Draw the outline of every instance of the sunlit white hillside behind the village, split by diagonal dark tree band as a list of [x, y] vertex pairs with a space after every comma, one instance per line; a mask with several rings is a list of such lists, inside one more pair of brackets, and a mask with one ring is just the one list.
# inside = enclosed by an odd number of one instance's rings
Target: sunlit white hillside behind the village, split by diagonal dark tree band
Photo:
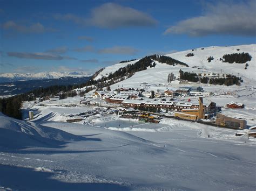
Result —
[[[256, 65], [256, 45], [239, 45], [239, 46], [230, 46], [230, 47], [205, 47], [205, 48], [195, 48], [194, 51], [192, 49], [182, 52], [176, 52], [172, 54], [167, 54], [166, 56], [170, 56], [176, 60], [187, 63], [190, 67], [184, 67], [182, 65], [170, 66], [165, 63], [157, 63], [155, 68], [148, 67], [146, 70], [142, 70], [140, 72], [136, 72], [132, 77], [126, 79], [122, 82], [114, 84], [113, 87], [117, 86], [126, 86], [129, 87], [131, 84], [136, 84], [139, 86], [142, 82], [147, 83], [167, 83], [167, 76], [171, 72], [174, 73], [177, 77], [179, 77], [179, 70], [185, 70], [188, 72], [214, 72], [214, 73], [225, 73], [225, 74], [233, 74], [236, 76], [242, 77], [242, 79], [251, 79], [256, 80], [255, 75], [255, 65]], [[252, 56], [252, 60], [248, 61], [248, 67], [245, 69], [245, 63], [227, 63], [220, 61], [220, 58], [223, 57], [224, 54], [232, 54], [232, 53], [249, 53]], [[194, 56], [187, 57], [186, 54], [193, 53]], [[213, 60], [208, 62], [207, 58], [209, 56], [213, 56]], [[121, 67], [125, 67], [129, 64], [133, 64], [136, 61], [126, 62], [126, 63], [118, 63], [113, 66], [106, 67], [102, 72], [100, 72], [96, 76], [96, 80], [102, 76], [107, 76], [110, 72], [114, 73]], [[246, 81], [246, 80], [245, 80]]]

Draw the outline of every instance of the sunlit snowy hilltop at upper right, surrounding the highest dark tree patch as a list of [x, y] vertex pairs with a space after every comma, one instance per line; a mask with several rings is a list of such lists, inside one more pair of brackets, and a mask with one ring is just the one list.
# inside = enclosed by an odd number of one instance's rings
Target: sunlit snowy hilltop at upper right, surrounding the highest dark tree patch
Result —
[[[248, 61], [248, 68], [245, 69], [245, 63], [227, 63], [220, 61], [224, 54], [233, 53], [249, 53], [252, 60]], [[186, 57], [186, 54], [193, 53], [194, 56]], [[198, 66], [211, 72], [230, 73], [234, 75], [246, 76], [248, 78], [256, 79], [256, 45], [239, 45], [239, 46], [211, 46], [206, 48], [195, 48], [194, 51], [182, 51], [172, 54], [167, 54], [174, 59], [187, 63], [190, 67]], [[208, 62], [207, 58], [213, 56], [213, 60]]]

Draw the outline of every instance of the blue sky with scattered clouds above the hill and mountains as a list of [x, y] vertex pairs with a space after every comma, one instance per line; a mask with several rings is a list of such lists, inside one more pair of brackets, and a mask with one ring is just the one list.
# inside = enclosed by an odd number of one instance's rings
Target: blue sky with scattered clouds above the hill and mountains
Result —
[[85, 72], [256, 43], [256, 1], [0, 0], [0, 73]]

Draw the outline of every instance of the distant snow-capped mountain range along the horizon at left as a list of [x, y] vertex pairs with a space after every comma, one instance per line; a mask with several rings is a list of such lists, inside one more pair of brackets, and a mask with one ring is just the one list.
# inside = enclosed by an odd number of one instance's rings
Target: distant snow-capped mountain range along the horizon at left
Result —
[[56, 79], [59, 77], [84, 77], [90, 74], [84, 72], [41, 72], [41, 73], [5, 73], [0, 74], [0, 82], [17, 80]]

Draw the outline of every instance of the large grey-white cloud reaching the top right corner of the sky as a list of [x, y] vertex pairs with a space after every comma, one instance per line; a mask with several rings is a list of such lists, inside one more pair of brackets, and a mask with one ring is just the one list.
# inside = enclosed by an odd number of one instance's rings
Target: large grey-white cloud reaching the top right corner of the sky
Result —
[[231, 34], [239, 36], [256, 35], [256, 1], [238, 4], [209, 4], [203, 16], [182, 20], [169, 27], [164, 34], [188, 34], [206, 36], [209, 34]]

